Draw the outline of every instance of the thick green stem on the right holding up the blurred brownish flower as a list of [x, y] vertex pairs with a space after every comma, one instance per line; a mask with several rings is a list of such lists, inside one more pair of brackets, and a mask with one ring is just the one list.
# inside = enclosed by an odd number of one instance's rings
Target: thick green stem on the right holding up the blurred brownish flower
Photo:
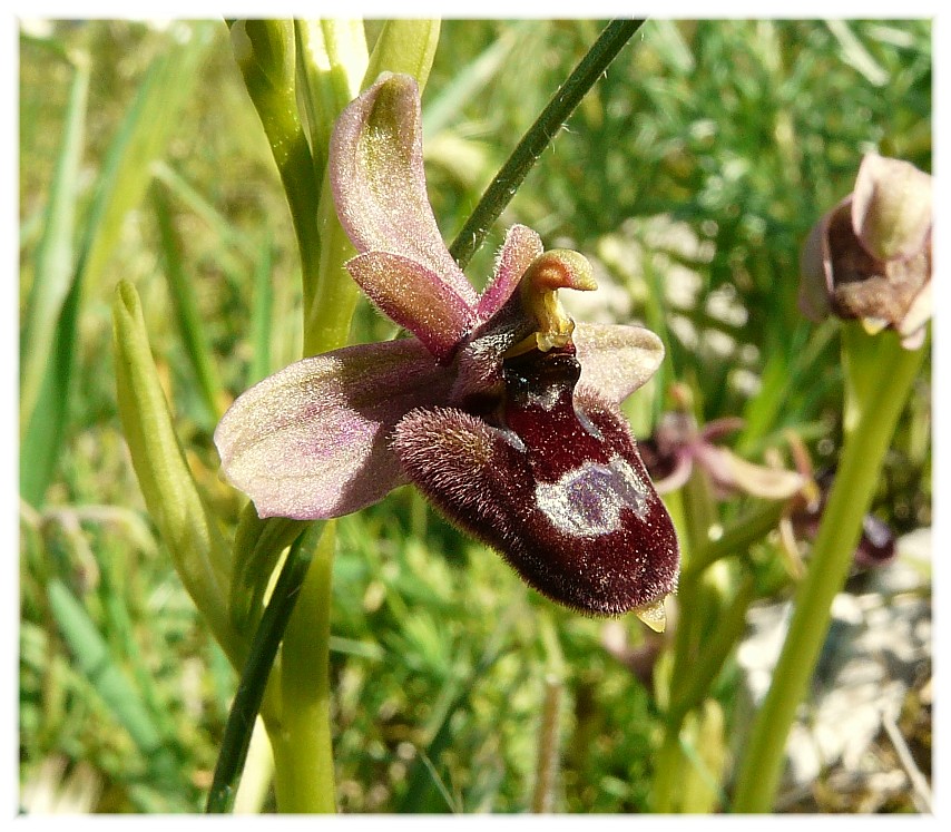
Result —
[[[756, 714], [739, 767], [734, 812], [768, 812], [773, 806], [786, 737], [825, 640], [832, 600], [845, 583], [882, 460], [927, 352], [903, 350], [891, 332], [876, 339], [856, 335], [853, 330], [843, 340], [846, 370], [861, 365], [872, 378], [857, 385], [846, 384], [846, 392], [857, 390], [864, 395], [846, 402], [846, 412], [854, 414], [854, 427], [846, 433], [773, 684]], [[871, 364], [863, 359], [873, 351], [876, 361]]]

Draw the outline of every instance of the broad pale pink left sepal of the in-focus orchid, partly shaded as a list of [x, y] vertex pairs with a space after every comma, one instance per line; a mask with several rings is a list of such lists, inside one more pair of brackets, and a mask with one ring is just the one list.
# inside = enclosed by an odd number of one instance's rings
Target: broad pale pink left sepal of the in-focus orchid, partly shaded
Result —
[[261, 517], [339, 517], [403, 478], [389, 448], [411, 409], [443, 398], [448, 380], [415, 339], [351, 346], [298, 361], [241, 395], [215, 443], [227, 479]]

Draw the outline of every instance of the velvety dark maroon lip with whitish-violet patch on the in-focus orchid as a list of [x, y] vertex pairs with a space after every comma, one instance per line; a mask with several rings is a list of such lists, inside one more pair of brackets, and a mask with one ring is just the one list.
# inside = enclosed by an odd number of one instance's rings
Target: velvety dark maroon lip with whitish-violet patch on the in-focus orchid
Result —
[[416, 410], [395, 431], [406, 476], [535, 589], [618, 615], [677, 581], [674, 526], [630, 431], [607, 402], [576, 400], [573, 356], [507, 362], [503, 427], [454, 409]]

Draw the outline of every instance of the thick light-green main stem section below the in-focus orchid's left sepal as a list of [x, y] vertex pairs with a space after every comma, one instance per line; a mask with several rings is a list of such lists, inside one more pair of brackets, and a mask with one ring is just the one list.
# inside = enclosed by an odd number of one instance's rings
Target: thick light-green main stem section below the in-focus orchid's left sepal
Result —
[[335, 523], [330, 521], [284, 632], [281, 714], [276, 725], [266, 720], [282, 813], [336, 811], [329, 658], [335, 540]]

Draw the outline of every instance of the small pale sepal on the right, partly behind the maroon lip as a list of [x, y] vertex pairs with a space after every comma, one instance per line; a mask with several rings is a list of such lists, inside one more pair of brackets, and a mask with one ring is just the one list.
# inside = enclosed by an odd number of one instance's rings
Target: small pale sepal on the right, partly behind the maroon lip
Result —
[[664, 360], [660, 339], [643, 326], [579, 323], [573, 340], [581, 364], [579, 389], [615, 404], [643, 386]]

